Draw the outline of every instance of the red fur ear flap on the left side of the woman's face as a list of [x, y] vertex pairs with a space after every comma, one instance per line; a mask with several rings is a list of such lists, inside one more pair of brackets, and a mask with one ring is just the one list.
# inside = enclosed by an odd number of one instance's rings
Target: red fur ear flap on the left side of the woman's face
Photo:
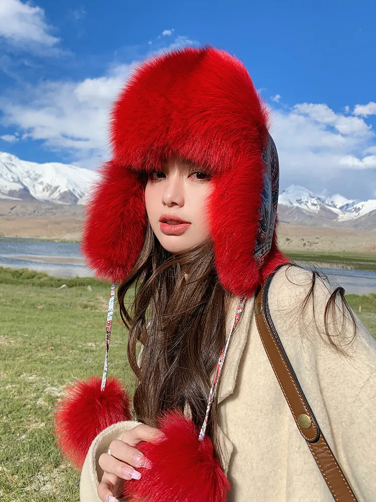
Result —
[[146, 208], [140, 174], [107, 162], [90, 191], [85, 210], [81, 253], [103, 280], [120, 283], [145, 241]]

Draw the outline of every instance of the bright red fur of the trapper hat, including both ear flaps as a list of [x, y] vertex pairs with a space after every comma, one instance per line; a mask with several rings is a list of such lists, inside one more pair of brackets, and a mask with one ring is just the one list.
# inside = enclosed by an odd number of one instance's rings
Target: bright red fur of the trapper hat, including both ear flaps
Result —
[[[142, 248], [146, 210], [137, 172], [179, 156], [208, 167], [216, 268], [225, 289], [251, 295], [263, 271], [253, 258], [268, 112], [245, 66], [211, 46], [187, 47], [139, 65], [111, 112], [112, 160], [87, 204], [81, 251], [96, 275], [121, 282]], [[264, 264], [285, 263], [276, 240]]]

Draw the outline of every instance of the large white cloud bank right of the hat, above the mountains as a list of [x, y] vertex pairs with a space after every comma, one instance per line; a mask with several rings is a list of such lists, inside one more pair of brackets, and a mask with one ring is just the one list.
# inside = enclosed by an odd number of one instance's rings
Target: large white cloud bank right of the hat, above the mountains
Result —
[[376, 145], [368, 124], [363, 121], [354, 126], [350, 121], [347, 127], [346, 117], [325, 104], [300, 103], [272, 113], [281, 188], [295, 184], [317, 192], [326, 188], [350, 198], [373, 197]]

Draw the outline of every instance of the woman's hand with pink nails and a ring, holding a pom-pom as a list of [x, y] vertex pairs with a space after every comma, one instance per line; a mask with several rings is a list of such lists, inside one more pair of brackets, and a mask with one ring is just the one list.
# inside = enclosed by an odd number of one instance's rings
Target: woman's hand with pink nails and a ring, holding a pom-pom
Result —
[[97, 493], [103, 502], [114, 502], [114, 497], [121, 493], [124, 480], [140, 479], [141, 473], [133, 467], [150, 469], [150, 460], [133, 447], [140, 441], [154, 442], [161, 436], [164, 434], [160, 430], [139, 424], [125, 431], [121, 440], [111, 442], [109, 448], [111, 454], [102, 453], [98, 460], [104, 472]]

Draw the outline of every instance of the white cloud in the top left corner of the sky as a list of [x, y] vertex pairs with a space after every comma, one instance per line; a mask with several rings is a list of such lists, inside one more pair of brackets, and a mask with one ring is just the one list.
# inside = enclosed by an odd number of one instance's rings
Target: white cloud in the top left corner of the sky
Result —
[[0, 0], [0, 38], [26, 52], [57, 54], [59, 38], [45, 19], [44, 10], [21, 0]]

